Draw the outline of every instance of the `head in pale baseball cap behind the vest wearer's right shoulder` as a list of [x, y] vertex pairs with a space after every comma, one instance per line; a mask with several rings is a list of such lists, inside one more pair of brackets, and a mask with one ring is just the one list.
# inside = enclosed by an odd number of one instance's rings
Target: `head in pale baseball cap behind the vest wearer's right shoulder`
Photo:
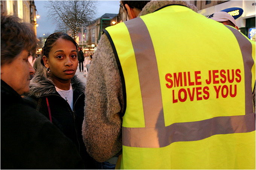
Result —
[[214, 21], [218, 21], [219, 23], [224, 24], [225, 26], [232, 26], [235, 29], [238, 29], [238, 26], [236, 26], [236, 21], [235, 18], [232, 17], [231, 15], [229, 15], [227, 12], [224, 11], [219, 11], [216, 12], [212, 15], [210, 15], [210, 17], [208, 17]]

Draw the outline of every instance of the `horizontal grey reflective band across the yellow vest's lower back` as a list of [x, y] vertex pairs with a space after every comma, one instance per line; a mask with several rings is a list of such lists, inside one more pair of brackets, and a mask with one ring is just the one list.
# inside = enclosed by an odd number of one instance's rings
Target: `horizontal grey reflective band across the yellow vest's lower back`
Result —
[[246, 114], [174, 123], [167, 127], [122, 128], [124, 146], [165, 147], [173, 142], [202, 140], [217, 134], [251, 132], [255, 130], [255, 118], [254, 114]]

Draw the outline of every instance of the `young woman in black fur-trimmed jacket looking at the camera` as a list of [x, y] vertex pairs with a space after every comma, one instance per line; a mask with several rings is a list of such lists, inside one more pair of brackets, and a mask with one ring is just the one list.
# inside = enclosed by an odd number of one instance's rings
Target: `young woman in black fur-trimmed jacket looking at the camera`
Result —
[[44, 69], [31, 80], [28, 95], [37, 101], [40, 113], [75, 143], [85, 168], [95, 169], [81, 134], [85, 84], [75, 75], [77, 51], [78, 45], [66, 33], [51, 34], [44, 44]]

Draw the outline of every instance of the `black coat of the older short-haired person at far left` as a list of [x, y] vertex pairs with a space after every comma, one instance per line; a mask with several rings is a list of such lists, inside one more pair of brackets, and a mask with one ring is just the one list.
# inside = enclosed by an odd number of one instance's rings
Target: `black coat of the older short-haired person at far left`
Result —
[[1, 80], [1, 169], [84, 169], [76, 146]]

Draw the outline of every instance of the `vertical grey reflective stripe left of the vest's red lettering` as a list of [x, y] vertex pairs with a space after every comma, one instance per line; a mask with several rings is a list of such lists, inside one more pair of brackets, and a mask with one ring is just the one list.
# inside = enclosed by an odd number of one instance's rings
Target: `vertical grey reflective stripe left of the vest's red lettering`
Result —
[[[133, 20], [136, 20], [136, 22]], [[136, 57], [145, 126], [147, 128], [154, 128], [156, 125], [165, 126], [161, 87], [154, 47], [148, 29], [142, 19], [135, 18], [133, 20], [126, 21], [125, 25], [129, 30]], [[133, 27], [134, 23], [136, 23], [136, 25], [138, 24], [139, 26]], [[150, 78], [148, 78], [149, 72]], [[154, 96], [154, 98], [151, 96]]]

